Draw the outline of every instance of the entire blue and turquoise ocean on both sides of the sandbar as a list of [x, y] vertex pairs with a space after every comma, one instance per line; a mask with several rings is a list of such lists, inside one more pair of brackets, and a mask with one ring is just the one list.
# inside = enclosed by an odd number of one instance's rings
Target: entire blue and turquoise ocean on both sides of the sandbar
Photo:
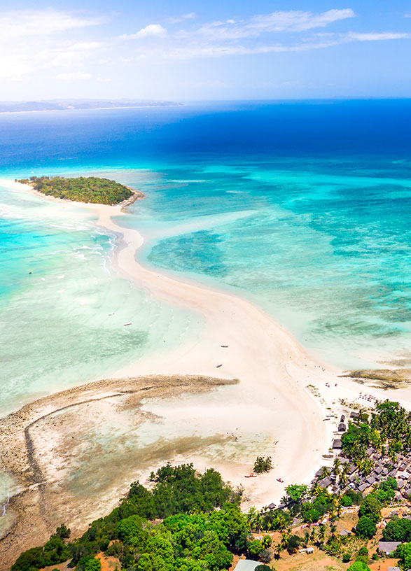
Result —
[[[342, 369], [410, 367], [410, 133], [407, 99], [11, 113], [0, 178], [132, 185], [118, 223], [146, 265], [251, 299]], [[0, 188], [0, 414], [200, 334], [69, 209]]]

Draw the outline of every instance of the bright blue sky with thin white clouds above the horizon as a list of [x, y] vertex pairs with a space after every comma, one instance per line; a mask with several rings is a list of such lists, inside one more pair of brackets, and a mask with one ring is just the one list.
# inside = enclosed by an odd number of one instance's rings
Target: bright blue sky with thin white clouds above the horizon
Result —
[[0, 0], [0, 99], [411, 96], [405, 0]]

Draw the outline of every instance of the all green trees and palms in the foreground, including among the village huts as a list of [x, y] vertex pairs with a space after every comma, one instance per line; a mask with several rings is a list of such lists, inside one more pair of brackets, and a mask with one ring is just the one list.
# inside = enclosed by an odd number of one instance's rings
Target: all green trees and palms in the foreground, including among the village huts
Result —
[[[400, 438], [407, 435], [410, 419], [411, 415], [398, 403], [389, 401], [379, 404], [370, 418], [361, 413], [349, 425], [344, 442], [352, 463], [368, 470], [369, 446], [395, 456]], [[230, 567], [233, 554], [270, 563], [284, 551], [292, 555], [300, 547], [309, 546], [339, 557], [344, 563], [354, 561], [351, 571], [366, 571], [370, 561], [366, 545], [376, 535], [382, 506], [392, 502], [397, 484], [396, 479], [386, 477], [363, 498], [360, 492], [347, 487], [347, 480], [344, 482], [350, 465], [335, 458], [333, 467], [324, 468], [311, 487], [287, 486], [279, 508], [251, 507], [242, 514], [242, 491], [225, 484], [218, 472], [196, 474], [193, 465], [167, 464], [151, 473], [151, 490], [134, 482], [120, 505], [108, 516], [94, 521], [83, 537], [69, 541], [70, 530], [60, 526], [43, 547], [25, 551], [12, 571], [38, 571], [45, 565], [68, 560], [76, 571], [100, 571], [96, 558], [100, 552], [118, 558], [120, 569], [127, 571], [223, 571]], [[270, 467], [270, 457], [256, 459], [256, 471]], [[330, 486], [319, 485], [328, 477], [335, 483], [333, 493]], [[352, 505], [360, 506], [355, 533], [340, 534], [337, 519], [343, 507]], [[347, 517], [347, 529], [354, 531], [351, 517]], [[299, 525], [296, 520], [308, 525], [293, 535], [292, 528]], [[279, 531], [274, 541], [270, 535], [262, 534], [271, 530]], [[256, 538], [251, 533], [263, 537]], [[391, 519], [382, 536], [386, 541], [403, 542], [396, 554], [401, 568], [411, 567], [411, 521]], [[373, 547], [375, 544], [372, 542]], [[371, 556], [373, 560], [378, 558], [375, 553]], [[260, 565], [261, 571], [265, 567]]]

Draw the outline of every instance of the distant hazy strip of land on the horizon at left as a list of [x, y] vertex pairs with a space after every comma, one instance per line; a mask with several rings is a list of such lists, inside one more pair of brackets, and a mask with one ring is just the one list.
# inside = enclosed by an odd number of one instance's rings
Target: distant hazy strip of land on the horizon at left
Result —
[[180, 107], [175, 101], [151, 99], [45, 99], [43, 101], [0, 101], [0, 113], [23, 111], [76, 111], [122, 107]]

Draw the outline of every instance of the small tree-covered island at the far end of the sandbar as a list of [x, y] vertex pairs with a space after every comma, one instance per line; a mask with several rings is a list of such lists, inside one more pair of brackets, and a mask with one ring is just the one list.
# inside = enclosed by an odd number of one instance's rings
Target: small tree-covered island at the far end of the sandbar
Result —
[[31, 176], [16, 181], [31, 186], [42, 195], [73, 202], [92, 204], [122, 204], [126, 206], [144, 197], [141, 192], [128, 186], [111, 181], [109, 178], [97, 176], [78, 176], [64, 178], [62, 176]]

